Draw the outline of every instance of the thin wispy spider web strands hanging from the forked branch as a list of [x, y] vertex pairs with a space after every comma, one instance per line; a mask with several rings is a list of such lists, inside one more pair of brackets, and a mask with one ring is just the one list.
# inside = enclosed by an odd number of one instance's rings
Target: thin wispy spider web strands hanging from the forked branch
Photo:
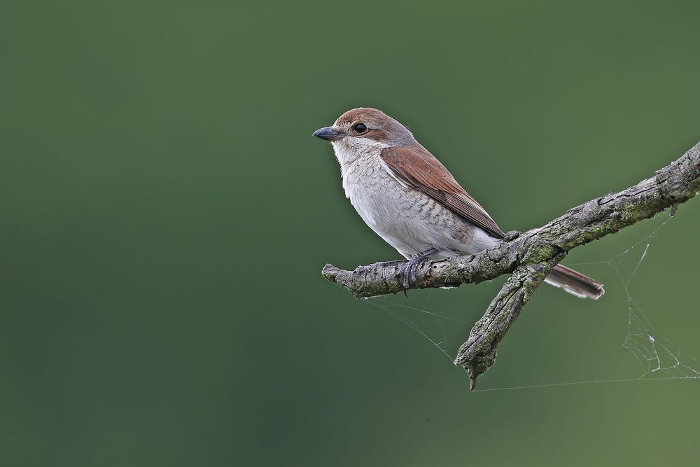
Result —
[[[682, 351], [663, 335], [659, 334], [652, 326], [647, 314], [639, 303], [633, 298], [630, 284], [634, 279], [657, 238], [659, 230], [671, 221], [666, 218], [654, 230], [626, 248], [622, 253], [608, 260], [593, 261], [589, 263], [568, 263], [569, 266], [608, 266], [619, 279], [618, 287], [621, 287], [626, 295], [627, 326], [626, 335], [615, 354], [603, 366], [595, 379], [554, 382], [546, 384], [531, 384], [526, 386], [496, 387], [491, 389], [477, 389], [476, 391], [506, 391], [514, 389], [538, 388], [547, 386], [569, 386], [575, 384], [594, 384], [603, 382], [625, 382], [639, 380], [659, 379], [700, 379], [700, 362], [693, 356]], [[624, 267], [631, 272], [624, 273]], [[612, 285], [615, 287], [616, 285]], [[610, 287], [610, 288], [612, 288]], [[473, 323], [456, 319], [444, 314], [438, 314], [427, 309], [433, 290], [428, 291], [428, 296], [423, 307], [413, 307], [405, 303], [393, 302], [385, 298], [371, 298], [365, 300], [372, 306], [381, 309], [394, 319], [405, 324], [417, 334], [428, 340], [441, 354], [444, 354], [450, 363], [453, 361], [454, 352], [468, 335]], [[632, 368], [624, 368], [625, 361], [622, 355], [628, 355], [636, 361]], [[629, 358], [626, 360], [629, 367]], [[616, 364], [616, 365], [615, 365]], [[623, 368], [615, 368], [614, 366]], [[624, 373], [624, 377], [619, 375]]]

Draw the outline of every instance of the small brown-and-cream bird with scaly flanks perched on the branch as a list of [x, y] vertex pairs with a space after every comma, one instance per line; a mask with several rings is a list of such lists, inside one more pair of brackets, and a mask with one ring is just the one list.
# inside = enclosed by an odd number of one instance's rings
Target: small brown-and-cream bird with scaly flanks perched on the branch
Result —
[[[412, 132], [370, 107], [346, 111], [313, 135], [332, 144], [346, 197], [360, 217], [409, 261], [404, 291], [422, 260], [496, 248], [505, 237], [481, 204]], [[603, 284], [563, 265], [545, 278], [579, 298], [601, 298]]]

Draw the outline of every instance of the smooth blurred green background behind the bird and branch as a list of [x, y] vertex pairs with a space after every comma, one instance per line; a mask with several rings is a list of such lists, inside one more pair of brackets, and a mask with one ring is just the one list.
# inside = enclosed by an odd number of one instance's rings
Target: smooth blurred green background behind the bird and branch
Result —
[[[375, 303], [322, 279], [398, 255], [311, 132], [383, 109], [505, 230], [533, 228], [700, 140], [699, 19], [693, 0], [4, 2], [0, 464], [696, 462], [696, 380], [470, 393], [381, 309], [452, 356], [503, 278]], [[697, 356], [699, 215], [681, 206], [629, 284]], [[543, 287], [482, 389], [600, 374], [626, 294], [609, 265], [579, 268], [605, 298]], [[441, 319], [444, 339], [402, 306], [463, 323]], [[605, 377], [639, 375], [628, 357]]]

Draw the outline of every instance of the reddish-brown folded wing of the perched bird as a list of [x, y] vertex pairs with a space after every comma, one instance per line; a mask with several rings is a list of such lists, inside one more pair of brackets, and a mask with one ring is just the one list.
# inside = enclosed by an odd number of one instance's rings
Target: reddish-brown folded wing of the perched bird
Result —
[[433, 197], [458, 216], [478, 225], [493, 237], [503, 238], [503, 230], [474, 198], [454, 179], [444, 165], [423, 146], [384, 148], [381, 159], [394, 176], [408, 186]]

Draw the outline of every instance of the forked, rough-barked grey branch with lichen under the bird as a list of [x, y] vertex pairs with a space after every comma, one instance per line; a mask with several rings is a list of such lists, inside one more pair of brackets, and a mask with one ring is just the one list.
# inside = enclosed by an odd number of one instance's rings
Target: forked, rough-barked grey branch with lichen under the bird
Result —
[[[418, 281], [410, 288], [478, 284], [512, 273], [454, 361], [467, 370], [474, 389], [479, 375], [496, 361], [498, 343], [522, 307], [568, 251], [652, 218], [668, 207], [675, 209], [699, 190], [700, 143], [635, 186], [580, 204], [540, 228], [522, 234], [508, 232], [495, 249], [449, 260], [423, 261]], [[402, 292], [399, 275], [404, 266], [405, 261], [390, 261], [346, 271], [328, 264], [322, 274], [356, 298], [369, 298]]]

